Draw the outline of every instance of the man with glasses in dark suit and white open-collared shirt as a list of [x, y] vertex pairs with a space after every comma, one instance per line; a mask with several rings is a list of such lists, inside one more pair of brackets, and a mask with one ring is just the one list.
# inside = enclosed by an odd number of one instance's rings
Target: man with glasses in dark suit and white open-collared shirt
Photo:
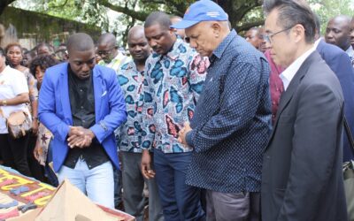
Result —
[[271, 55], [286, 69], [263, 158], [262, 219], [347, 220], [342, 88], [313, 46], [313, 13], [302, 0], [268, 0], [264, 8]]

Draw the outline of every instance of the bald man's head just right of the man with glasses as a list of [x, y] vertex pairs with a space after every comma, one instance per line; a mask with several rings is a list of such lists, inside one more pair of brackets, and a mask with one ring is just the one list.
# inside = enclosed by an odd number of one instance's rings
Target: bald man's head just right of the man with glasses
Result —
[[325, 39], [327, 43], [332, 43], [348, 50], [350, 47], [350, 17], [338, 15], [330, 19], [327, 24]]

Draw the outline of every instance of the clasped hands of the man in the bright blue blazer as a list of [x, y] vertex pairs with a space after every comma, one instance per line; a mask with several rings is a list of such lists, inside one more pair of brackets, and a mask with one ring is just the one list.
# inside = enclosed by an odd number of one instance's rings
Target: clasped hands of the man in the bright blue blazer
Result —
[[95, 138], [95, 133], [82, 126], [70, 126], [70, 131], [67, 138], [67, 143], [71, 149], [73, 148], [87, 148], [91, 145]]

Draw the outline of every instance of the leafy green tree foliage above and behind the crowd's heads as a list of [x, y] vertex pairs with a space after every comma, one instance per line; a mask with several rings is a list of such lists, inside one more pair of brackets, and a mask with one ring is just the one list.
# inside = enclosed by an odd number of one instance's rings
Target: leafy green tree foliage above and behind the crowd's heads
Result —
[[[4, 1], [4, 0], [1, 0]], [[6, 0], [14, 1], [14, 0]], [[65, 19], [86, 22], [103, 31], [127, 36], [129, 27], [142, 23], [151, 11], [165, 11], [183, 16], [184, 11], [196, 0], [17, 0], [15, 4], [27, 9], [48, 13]], [[248, 30], [264, 23], [262, 0], [214, 0], [229, 15], [237, 31]], [[308, 0], [319, 15], [322, 33], [327, 20], [338, 14], [353, 15], [352, 0]], [[22, 7], [23, 8], [23, 7]], [[112, 11], [119, 12], [113, 16]], [[116, 13], [117, 14], [117, 13]], [[124, 37], [121, 42], [126, 42]]]

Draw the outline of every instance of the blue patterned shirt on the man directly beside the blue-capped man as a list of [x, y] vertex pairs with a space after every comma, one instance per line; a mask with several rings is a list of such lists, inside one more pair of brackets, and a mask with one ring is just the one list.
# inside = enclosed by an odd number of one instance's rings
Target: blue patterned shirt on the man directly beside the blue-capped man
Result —
[[192, 150], [177, 138], [183, 123], [193, 117], [208, 65], [207, 57], [200, 57], [181, 39], [166, 55], [150, 55], [145, 65], [142, 113], [147, 136], [142, 149], [153, 146], [164, 153]]

